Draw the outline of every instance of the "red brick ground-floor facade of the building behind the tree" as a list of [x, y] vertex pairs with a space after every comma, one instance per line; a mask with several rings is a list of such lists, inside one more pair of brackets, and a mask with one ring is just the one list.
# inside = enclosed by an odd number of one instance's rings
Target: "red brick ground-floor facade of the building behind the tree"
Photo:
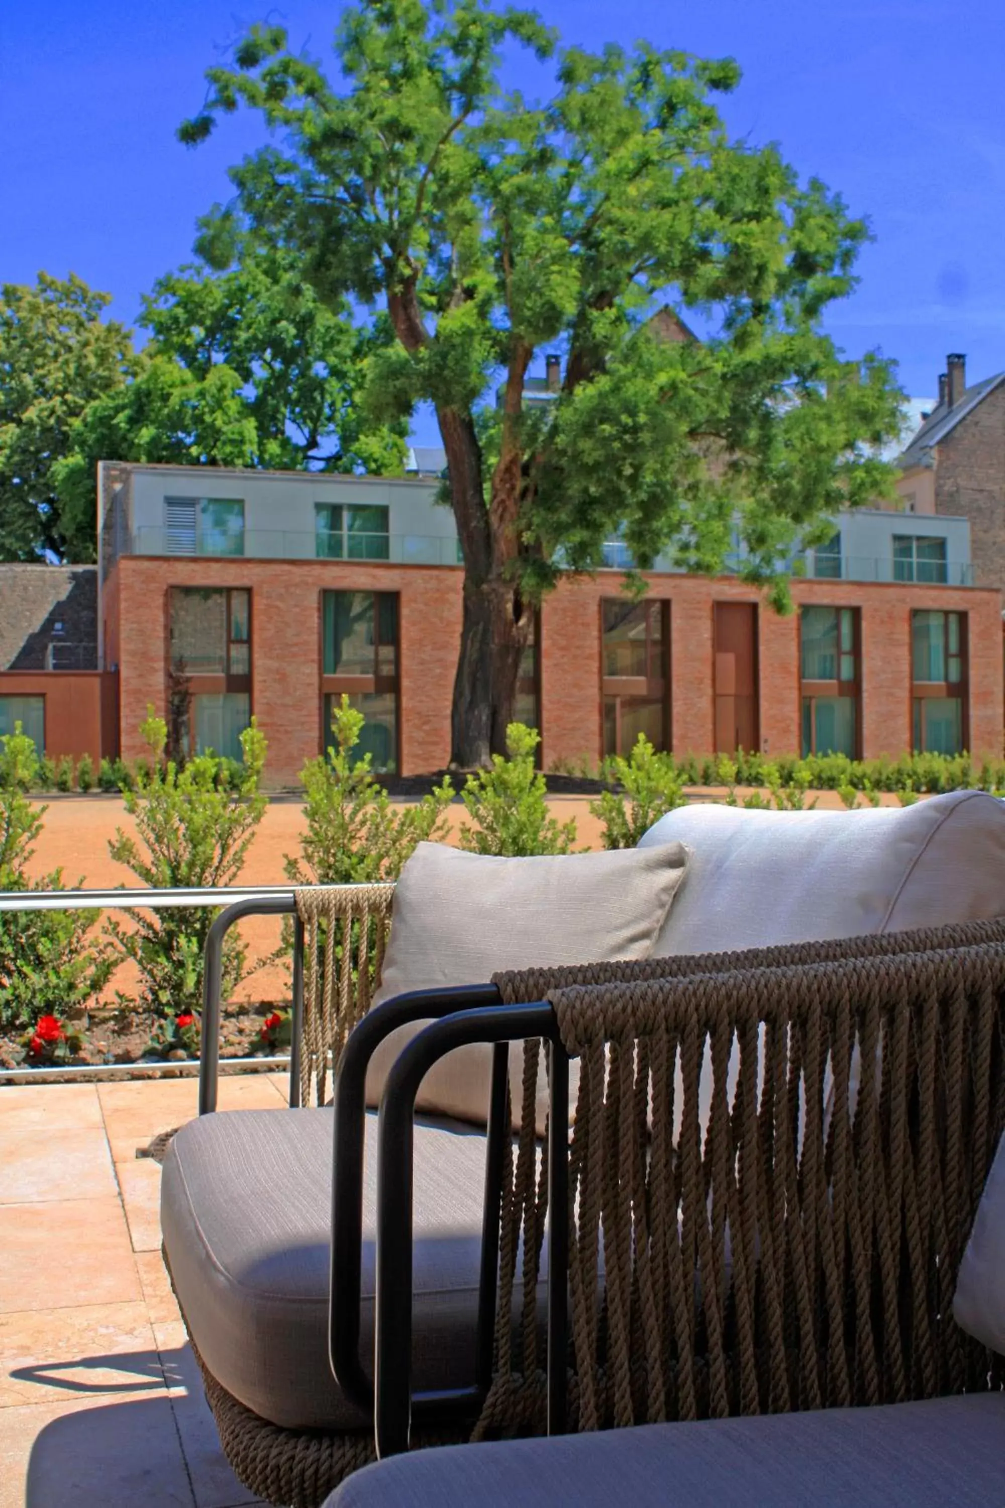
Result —
[[[121, 665], [124, 757], [142, 752], [148, 703], [164, 715], [167, 591], [170, 587], [252, 590], [252, 707], [270, 742], [273, 784], [295, 781], [319, 752], [321, 591], [399, 593], [402, 774], [443, 769], [449, 759], [451, 697], [461, 630], [461, 572], [336, 561], [122, 559], [105, 590], [108, 662]], [[564, 584], [541, 615], [541, 731], [544, 765], [591, 763], [601, 752], [600, 603], [619, 578]], [[672, 731], [677, 752], [711, 751], [716, 602], [756, 602], [743, 582], [652, 576], [654, 597], [671, 602]], [[796, 582], [800, 603], [853, 606], [862, 614], [862, 742], [866, 757], [910, 746], [910, 612], [969, 614], [970, 745], [1002, 746], [1000, 593], [946, 587]], [[799, 617], [762, 602], [759, 627], [761, 745], [791, 754], [800, 745]]]

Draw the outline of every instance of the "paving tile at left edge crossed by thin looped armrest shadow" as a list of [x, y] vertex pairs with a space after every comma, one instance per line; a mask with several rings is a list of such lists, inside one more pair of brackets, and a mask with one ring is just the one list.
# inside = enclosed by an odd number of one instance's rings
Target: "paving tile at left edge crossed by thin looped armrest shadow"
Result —
[[8, 1407], [163, 1387], [143, 1303], [0, 1315], [0, 1402]]

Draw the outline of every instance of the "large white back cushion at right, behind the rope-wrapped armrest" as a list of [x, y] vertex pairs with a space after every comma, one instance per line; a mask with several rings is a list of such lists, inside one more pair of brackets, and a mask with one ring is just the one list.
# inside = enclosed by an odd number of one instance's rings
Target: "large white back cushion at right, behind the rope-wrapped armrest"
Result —
[[680, 807], [639, 847], [692, 849], [652, 949], [717, 953], [1005, 914], [1005, 802], [957, 790], [913, 807]]

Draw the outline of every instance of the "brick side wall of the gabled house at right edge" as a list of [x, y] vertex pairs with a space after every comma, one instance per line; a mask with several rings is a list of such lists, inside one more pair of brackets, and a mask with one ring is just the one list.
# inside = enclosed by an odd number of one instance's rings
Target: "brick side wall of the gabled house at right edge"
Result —
[[970, 520], [978, 587], [1005, 587], [1005, 383], [939, 445], [936, 510]]

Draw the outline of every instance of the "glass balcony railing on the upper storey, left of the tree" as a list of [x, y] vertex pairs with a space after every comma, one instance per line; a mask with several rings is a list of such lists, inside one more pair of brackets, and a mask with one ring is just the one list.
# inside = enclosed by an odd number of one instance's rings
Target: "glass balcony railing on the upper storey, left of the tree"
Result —
[[[167, 529], [145, 526], [130, 538], [128, 555], [184, 555], [187, 559], [212, 559], [203, 547], [178, 550], [172, 547]], [[460, 566], [461, 553], [454, 535], [437, 534], [342, 534], [315, 529], [244, 529], [240, 550], [234, 540], [226, 552], [246, 559], [270, 561], [390, 561], [393, 566]]]

